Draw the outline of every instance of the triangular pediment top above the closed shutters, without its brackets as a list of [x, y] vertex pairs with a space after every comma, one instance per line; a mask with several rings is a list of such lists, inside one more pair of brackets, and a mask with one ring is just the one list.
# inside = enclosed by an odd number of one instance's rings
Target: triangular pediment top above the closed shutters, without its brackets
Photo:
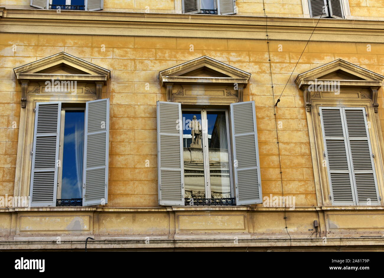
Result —
[[301, 88], [314, 80], [337, 80], [341, 85], [381, 86], [384, 77], [365, 68], [338, 59], [299, 74], [296, 84]]

